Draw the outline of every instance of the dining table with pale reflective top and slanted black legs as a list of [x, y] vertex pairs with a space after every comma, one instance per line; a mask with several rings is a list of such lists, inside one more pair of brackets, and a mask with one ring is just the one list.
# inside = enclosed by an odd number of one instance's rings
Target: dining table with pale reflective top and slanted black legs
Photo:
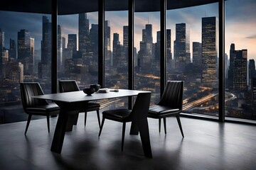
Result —
[[[137, 96], [139, 93], [149, 91], [137, 91], [119, 89], [119, 91], [109, 90], [107, 93], [95, 93], [92, 95], [84, 94], [83, 91], [73, 91], [58, 94], [44, 94], [33, 96], [33, 98], [42, 98], [48, 101], [54, 101], [60, 107], [57, 124], [53, 136], [53, 142], [50, 150], [58, 154], [61, 153], [65, 132], [72, 131], [75, 119], [78, 118], [80, 107], [86, 105], [89, 101], [98, 101], [107, 98], [121, 98], [127, 96]], [[152, 157], [151, 145], [149, 139], [149, 126], [147, 119], [132, 120], [130, 135], [140, 135], [145, 157]]]

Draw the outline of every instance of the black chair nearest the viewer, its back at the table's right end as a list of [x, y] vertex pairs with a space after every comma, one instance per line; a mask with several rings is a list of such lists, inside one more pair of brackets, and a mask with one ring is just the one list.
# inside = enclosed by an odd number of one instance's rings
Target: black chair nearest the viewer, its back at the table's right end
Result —
[[102, 132], [105, 119], [114, 120], [123, 123], [122, 126], [122, 151], [124, 148], [124, 132], [127, 122], [139, 121], [146, 119], [146, 114], [149, 111], [151, 92], [139, 93], [134, 103], [132, 110], [117, 109], [102, 112], [102, 123], [100, 126], [99, 137]]

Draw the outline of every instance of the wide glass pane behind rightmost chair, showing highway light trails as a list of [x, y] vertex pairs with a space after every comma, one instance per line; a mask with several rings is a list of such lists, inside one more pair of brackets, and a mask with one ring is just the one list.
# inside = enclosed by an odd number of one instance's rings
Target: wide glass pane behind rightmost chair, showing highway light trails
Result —
[[218, 115], [218, 4], [166, 15], [166, 80], [184, 81], [184, 112]]

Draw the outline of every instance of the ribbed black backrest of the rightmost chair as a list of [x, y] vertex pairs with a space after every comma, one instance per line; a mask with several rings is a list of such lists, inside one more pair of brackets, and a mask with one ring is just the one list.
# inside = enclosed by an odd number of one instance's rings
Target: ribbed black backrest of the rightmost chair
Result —
[[183, 106], [184, 81], [167, 81], [163, 96], [159, 101], [160, 106], [179, 108]]

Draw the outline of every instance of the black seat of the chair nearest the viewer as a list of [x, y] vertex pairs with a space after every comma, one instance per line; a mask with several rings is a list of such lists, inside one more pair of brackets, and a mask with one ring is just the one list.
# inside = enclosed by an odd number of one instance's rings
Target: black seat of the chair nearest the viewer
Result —
[[131, 110], [128, 109], [117, 109], [117, 110], [110, 110], [102, 112], [102, 115], [105, 118], [109, 118], [112, 120], [124, 120], [125, 118], [129, 117]]

